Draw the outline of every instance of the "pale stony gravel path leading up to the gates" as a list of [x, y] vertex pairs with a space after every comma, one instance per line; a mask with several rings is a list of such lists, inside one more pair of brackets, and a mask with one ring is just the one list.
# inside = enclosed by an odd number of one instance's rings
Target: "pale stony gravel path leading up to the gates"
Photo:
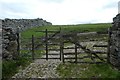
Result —
[[37, 59], [25, 70], [15, 74], [12, 78], [59, 78], [56, 68], [60, 63], [60, 60], [46, 61]]

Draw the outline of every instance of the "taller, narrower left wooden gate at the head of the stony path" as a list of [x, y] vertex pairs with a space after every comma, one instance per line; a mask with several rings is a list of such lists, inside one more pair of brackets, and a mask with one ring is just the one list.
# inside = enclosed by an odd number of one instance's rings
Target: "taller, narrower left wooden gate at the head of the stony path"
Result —
[[45, 34], [44, 37], [41, 38], [41, 44], [38, 44], [34, 47], [37, 49], [39, 46], [44, 46], [45, 54], [40, 59], [59, 59], [61, 60], [61, 47], [60, 47], [60, 32], [59, 31], [36, 31], [36, 32], [43, 32]]

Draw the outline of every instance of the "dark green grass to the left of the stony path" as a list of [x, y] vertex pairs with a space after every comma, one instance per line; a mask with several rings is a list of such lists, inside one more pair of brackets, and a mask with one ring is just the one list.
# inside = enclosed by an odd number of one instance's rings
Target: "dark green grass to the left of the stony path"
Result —
[[31, 59], [26, 57], [19, 57], [18, 60], [3, 60], [2, 61], [2, 78], [9, 79], [14, 76], [19, 69], [24, 69], [32, 62]]

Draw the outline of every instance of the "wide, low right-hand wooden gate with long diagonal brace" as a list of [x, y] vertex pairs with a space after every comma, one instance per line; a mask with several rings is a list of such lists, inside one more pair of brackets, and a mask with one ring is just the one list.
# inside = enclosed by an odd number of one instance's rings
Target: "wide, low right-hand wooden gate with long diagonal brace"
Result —
[[[107, 51], [92, 51], [86, 46], [81, 45], [77, 39], [77, 34], [62, 36], [62, 61], [71, 63], [106, 63]], [[66, 46], [67, 44], [72, 46]], [[107, 45], [93, 45], [92, 47], [104, 47]]]

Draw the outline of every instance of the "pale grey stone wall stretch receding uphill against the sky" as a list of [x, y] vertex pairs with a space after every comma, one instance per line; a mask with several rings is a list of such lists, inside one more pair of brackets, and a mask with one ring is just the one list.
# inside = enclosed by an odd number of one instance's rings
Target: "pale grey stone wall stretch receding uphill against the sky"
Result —
[[4, 19], [2, 20], [3, 27], [11, 27], [13, 31], [17, 31], [16, 28], [19, 28], [20, 31], [26, 30], [31, 27], [39, 27], [52, 25], [52, 23], [47, 22], [46, 20], [37, 18], [37, 19]]

